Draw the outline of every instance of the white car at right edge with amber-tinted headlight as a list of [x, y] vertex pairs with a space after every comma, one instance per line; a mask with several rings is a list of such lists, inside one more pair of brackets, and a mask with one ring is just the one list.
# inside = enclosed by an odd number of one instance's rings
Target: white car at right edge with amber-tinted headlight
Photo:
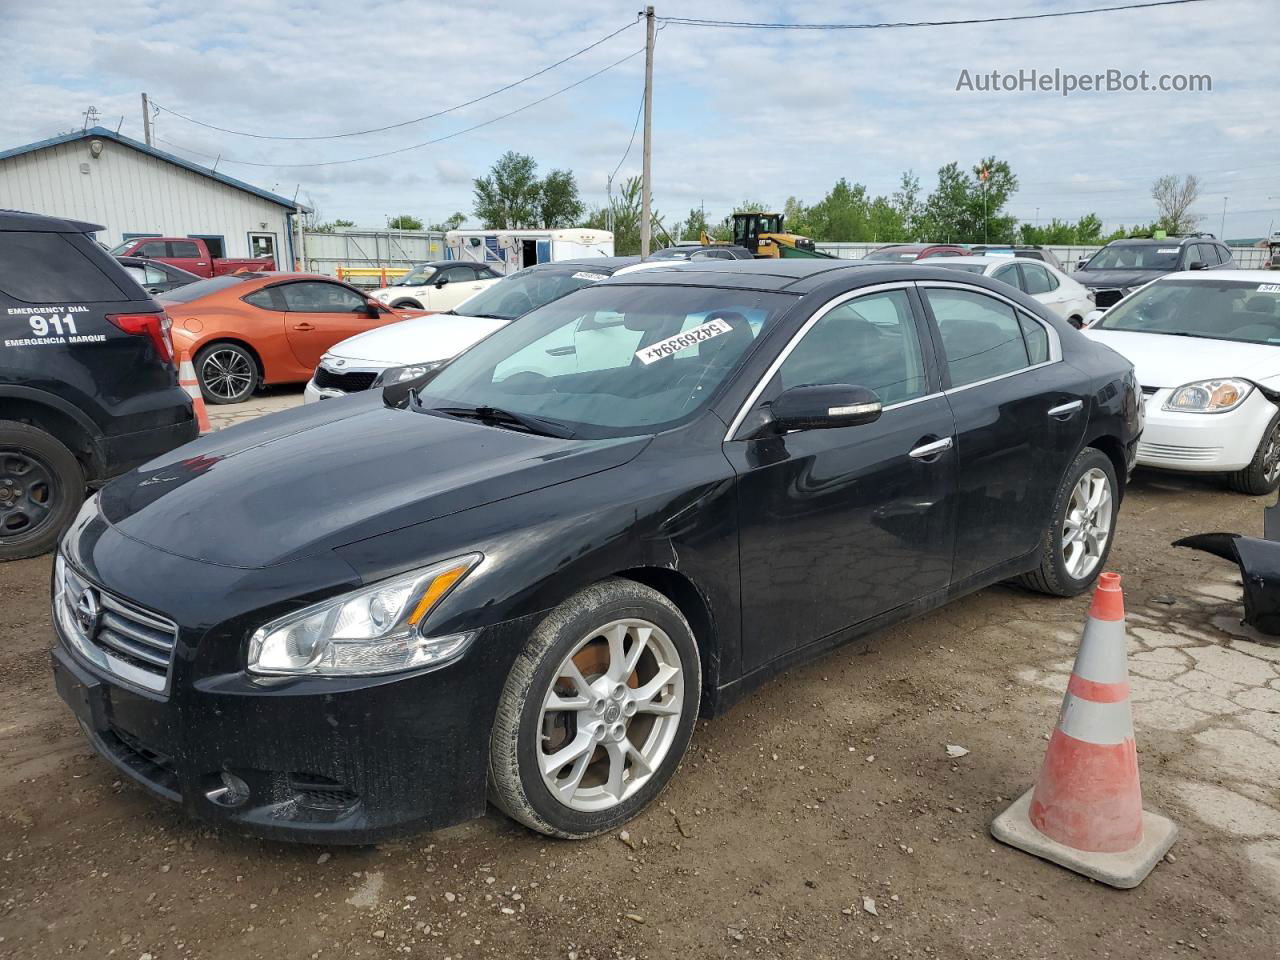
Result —
[[1134, 365], [1140, 466], [1224, 474], [1253, 495], [1280, 486], [1280, 278], [1166, 274], [1091, 316], [1084, 333]]

